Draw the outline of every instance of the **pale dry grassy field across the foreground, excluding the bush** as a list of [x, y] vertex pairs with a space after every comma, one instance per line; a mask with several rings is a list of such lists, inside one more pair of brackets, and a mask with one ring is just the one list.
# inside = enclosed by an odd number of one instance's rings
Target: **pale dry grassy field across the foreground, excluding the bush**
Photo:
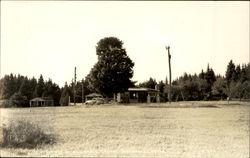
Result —
[[1, 156], [248, 158], [248, 102], [178, 102], [0, 109], [1, 128], [31, 120], [54, 145]]

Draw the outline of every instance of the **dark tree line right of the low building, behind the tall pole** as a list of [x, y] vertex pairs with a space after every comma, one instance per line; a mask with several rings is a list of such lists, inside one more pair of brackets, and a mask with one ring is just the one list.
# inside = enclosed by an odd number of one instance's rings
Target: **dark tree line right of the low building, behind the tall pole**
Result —
[[[155, 88], [157, 85], [161, 98], [168, 100], [169, 83], [156, 82], [150, 77], [148, 81], [137, 84], [138, 87]], [[199, 74], [184, 73], [172, 82], [172, 100], [220, 100], [230, 98], [250, 99], [250, 64], [242, 66], [228, 63], [226, 75], [215, 75], [210, 66]]]

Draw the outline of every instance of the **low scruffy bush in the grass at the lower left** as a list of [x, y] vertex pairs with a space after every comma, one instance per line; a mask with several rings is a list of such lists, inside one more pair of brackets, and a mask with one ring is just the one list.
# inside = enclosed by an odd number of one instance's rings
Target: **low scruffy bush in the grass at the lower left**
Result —
[[53, 135], [45, 134], [39, 126], [28, 121], [12, 121], [3, 127], [2, 147], [36, 148], [54, 143]]

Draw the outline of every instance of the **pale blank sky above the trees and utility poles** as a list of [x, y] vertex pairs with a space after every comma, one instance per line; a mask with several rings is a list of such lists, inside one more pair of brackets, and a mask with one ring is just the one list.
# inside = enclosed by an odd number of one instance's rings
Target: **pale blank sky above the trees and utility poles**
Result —
[[200, 73], [209, 64], [225, 75], [228, 62], [249, 62], [249, 2], [1, 1], [1, 77], [21, 74], [63, 86], [97, 62], [96, 43], [124, 42], [133, 80]]

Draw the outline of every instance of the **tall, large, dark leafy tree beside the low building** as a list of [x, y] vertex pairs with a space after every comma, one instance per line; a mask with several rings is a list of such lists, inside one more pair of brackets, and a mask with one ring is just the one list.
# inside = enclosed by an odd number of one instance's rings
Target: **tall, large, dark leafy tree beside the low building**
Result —
[[96, 46], [98, 62], [87, 76], [89, 88], [109, 96], [126, 91], [133, 85], [133, 61], [127, 55], [123, 42], [116, 37], [101, 39]]

